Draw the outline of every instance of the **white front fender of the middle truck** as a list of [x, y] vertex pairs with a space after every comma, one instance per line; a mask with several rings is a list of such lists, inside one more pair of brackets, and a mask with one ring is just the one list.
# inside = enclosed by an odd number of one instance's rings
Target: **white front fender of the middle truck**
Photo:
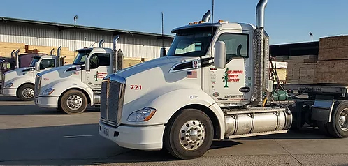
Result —
[[49, 88], [55, 89], [55, 91], [53, 91], [53, 93], [50, 94], [50, 96], [59, 96], [59, 97], [64, 93], [64, 91], [68, 89], [80, 89], [81, 91], [84, 91], [85, 93], [88, 94], [88, 96], [86, 97], [91, 100], [91, 106], [94, 105], [94, 102], [93, 102], [94, 96], [93, 96], [92, 89], [89, 86], [87, 86], [85, 83], [80, 82], [79, 80], [71, 80], [71, 79], [57, 80], [55, 82], [42, 86], [41, 92]]

